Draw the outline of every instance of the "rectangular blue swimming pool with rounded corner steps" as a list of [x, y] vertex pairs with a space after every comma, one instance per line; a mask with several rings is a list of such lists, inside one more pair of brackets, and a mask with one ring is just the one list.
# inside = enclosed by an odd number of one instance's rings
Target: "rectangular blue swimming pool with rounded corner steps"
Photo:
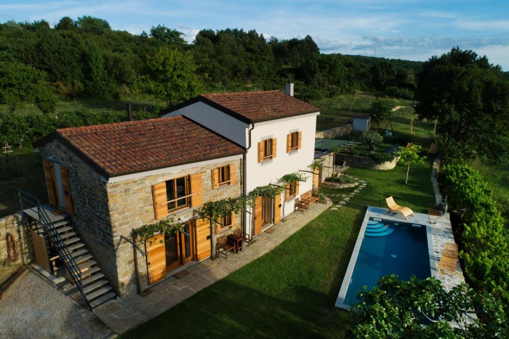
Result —
[[336, 307], [350, 308], [363, 286], [375, 287], [386, 274], [397, 274], [401, 279], [432, 276], [435, 265], [429, 222], [418, 213], [411, 221], [386, 215], [382, 218], [373, 213], [379, 210], [369, 208], [366, 212]]

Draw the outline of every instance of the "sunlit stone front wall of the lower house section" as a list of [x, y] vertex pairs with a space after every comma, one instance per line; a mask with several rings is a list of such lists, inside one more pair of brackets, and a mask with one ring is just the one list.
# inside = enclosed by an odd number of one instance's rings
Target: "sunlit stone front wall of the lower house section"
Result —
[[[218, 189], [212, 189], [211, 171], [222, 165], [236, 164], [235, 183]], [[167, 180], [192, 175], [196, 173], [202, 174], [203, 180], [203, 202], [219, 201], [229, 197], [235, 198], [242, 194], [241, 190], [241, 173], [242, 160], [238, 159], [224, 161], [218, 159], [217, 162], [206, 165], [196, 166], [189, 164], [185, 168], [178, 171], [168, 171], [162, 174], [150, 175], [135, 179], [123, 180], [107, 184], [108, 205], [110, 211], [111, 230], [116, 249], [116, 265], [118, 272], [118, 288], [122, 296], [126, 296], [136, 292], [137, 284], [140, 290], [149, 287], [147, 258], [144, 253], [136, 249], [134, 246], [122, 239], [124, 236], [132, 239], [133, 229], [139, 228], [144, 224], [153, 223], [154, 206], [152, 200], [152, 185]], [[193, 210], [198, 207], [184, 208], [172, 213], [167, 218], [174, 218], [181, 222], [186, 222], [193, 218]], [[236, 225], [240, 226], [241, 215], [236, 216]], [[235, 225], [234, 225], [235, 227]], [[227, 229], [221, 235], [233, 232]], [[216, 236], [212, 233], [212, 242], [216, 243]], [[138, 244], [139, 248], [145, 251], [145, 244]], [[134, 254], [136, 253], [136, 255]], [[134, 261], [136, 256], [136, 261]], [[137, 266], [137, 267], [136, 267]], [[137, 271], [137, 273], [136, 273]], [[137, 276], [136, 276], [137, 274]]]

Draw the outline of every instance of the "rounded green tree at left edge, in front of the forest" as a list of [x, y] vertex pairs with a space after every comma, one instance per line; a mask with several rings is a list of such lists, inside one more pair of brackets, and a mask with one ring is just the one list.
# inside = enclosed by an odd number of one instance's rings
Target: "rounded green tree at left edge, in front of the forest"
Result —
[[0, 62], [0, 102], [11, 112], [22, 101], [36, 104], [42, 111], [54, 110], [55, 95], [44, 81], [45, 73], [20, 62]]

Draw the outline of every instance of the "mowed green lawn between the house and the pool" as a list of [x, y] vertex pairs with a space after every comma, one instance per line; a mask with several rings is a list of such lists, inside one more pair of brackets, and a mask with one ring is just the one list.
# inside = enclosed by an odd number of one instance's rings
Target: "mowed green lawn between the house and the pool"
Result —
[[[405, 165], [390, 171], [350, 168], [367, 186], [345, 207], [328, 209], [266, 255], [122, 337], [349, 337], [355, 324], [334, 302], [366, 206], [385, 207], [392, 195], [426, 213], [434, 205], [431, 164], [428, 159], [411, 166], [408, 184]], [[336, 190], [333, 202], [351, 190]]]

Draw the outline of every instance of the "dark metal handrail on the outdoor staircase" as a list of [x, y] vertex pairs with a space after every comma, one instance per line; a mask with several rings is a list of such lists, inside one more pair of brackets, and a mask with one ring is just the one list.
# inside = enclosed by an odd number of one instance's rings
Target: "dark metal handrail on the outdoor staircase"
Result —
[[85, 294], [83, 293], [81, 271], [78, 265], [76, 264], [76, 261], [72, 257], [71, 252], [69, 251], [69, 249], [67, 249], [64, 240], [60, 237], [59, 232], [55, 229], [53, 222], [47, 215], [44, 208], [42, 208], [41, 202], [35, 196], [28, 192], [25, 192], [21, 188], [18, 188], [18, 195], [19, 202], [21, 204], [21, 210], [29, 209], [33, 212], [36, 212], [37, 215], [39, 216], [38, 223], [42, 225], [44, 233], [48, 235], [49, 241], [51, 241], [51, 244], [53, 245], [54, 248], [56, 248], [56, 251], [59, 253], [60, 259], [64, 262], [64, 265], [66, 266], [67, 270], [70, 273], [69, 275], [71, 276], [72, 280], [74, 281], [74, 284], [81, 293], [81, 296], [83, 297], [84, 301], [87, 303], [89, 308], [92, 309], [92, 306], [90, 305], [89, 301], [85, 297]]

